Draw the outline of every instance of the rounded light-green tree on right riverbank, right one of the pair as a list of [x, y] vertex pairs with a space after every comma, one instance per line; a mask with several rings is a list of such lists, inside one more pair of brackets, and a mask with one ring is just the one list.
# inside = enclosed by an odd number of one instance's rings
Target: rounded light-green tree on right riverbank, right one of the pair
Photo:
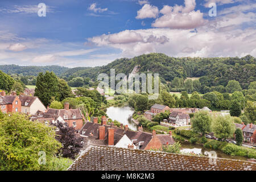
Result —
[[236, 125], [230, 115], [219, 115], [213, 119], [212, 130], [217, 138], [226, 139], [233, 136], [234, 131], [236, 130]]

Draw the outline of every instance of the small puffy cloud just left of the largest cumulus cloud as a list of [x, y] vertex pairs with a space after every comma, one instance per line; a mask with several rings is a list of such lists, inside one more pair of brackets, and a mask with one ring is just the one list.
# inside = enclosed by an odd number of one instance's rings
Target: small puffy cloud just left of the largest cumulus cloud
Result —
[[152, 5], [144, 5], [141, 10], [137, 11], [136, 19], [156, 18], [158, 16], [158, 7]]

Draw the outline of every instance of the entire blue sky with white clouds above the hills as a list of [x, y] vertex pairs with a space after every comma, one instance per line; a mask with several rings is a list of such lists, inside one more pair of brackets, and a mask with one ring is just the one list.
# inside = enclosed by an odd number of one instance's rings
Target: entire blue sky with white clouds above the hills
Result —
[[2, 0], [0, 64], [94, 67], [151, 52], [256, 56], [255, 13], [253, 0]]

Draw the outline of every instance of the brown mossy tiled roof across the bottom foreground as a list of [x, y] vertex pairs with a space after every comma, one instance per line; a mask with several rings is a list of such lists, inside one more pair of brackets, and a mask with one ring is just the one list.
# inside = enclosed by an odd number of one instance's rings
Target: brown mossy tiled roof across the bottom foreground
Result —
[[256, 164], [242, 160], [171, 154], [90, 144], [68, 168], [69, 171], [255, 171]]

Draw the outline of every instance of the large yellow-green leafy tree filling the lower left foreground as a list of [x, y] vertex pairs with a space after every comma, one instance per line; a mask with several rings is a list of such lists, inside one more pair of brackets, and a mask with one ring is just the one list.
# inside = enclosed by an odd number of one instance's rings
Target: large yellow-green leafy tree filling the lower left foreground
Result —
[[[0, 119], [0, 170], [47, 170], [60, 147], [54, 127], [23, 114], [5, 114]], [[46, 165], [38, 162], [43, 159], [39, 154], [46, 154]]]

